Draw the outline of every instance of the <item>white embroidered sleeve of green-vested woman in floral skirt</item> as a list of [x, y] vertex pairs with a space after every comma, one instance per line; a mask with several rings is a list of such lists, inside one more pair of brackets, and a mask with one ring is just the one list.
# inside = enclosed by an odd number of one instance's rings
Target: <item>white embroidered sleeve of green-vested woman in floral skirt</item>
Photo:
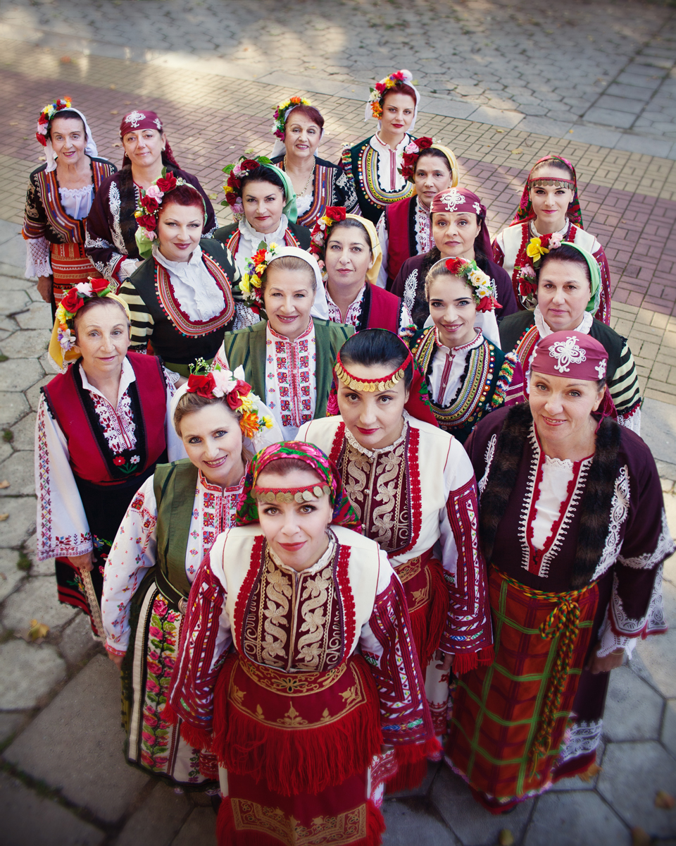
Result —
[[157, 503], [155, 476], [146, 479], [134, 495], [117, 530], [103, 574], [101, 618], [106, 649], [117, 655], [127, 651], [129, 604], [145, 571], [155, 564]]

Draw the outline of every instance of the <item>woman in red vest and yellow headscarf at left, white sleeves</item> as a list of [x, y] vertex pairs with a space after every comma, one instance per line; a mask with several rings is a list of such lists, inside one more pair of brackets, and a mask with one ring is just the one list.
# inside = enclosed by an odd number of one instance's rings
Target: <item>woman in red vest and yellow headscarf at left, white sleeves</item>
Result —
[[[158, 461], [183, 458], [169, 421], [172, 380], [128, 352], [129, 312], [106, 279], [79, 283], [57, 308], [35, 425], [38, 560], [56, 558], [60, 602], [102, 637], [103, 567], [134, 493]], [[74, 362], [68, 369], [68, 362]]]

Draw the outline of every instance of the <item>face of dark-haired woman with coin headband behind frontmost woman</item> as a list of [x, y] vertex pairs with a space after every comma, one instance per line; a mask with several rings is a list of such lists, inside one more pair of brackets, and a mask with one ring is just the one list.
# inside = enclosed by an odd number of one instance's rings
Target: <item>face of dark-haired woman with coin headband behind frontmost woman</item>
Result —
[[[358, 365], [346, 361], [357, 380], [382, 379], [390, 376], [394, 364]], [[405, 380], [385, 391], [355, 391], [338, 382], [338, 408], [345, 425], [364, 448], [382, 449], [401, 436], [404, 426], [404, 405], [408, 399]]]

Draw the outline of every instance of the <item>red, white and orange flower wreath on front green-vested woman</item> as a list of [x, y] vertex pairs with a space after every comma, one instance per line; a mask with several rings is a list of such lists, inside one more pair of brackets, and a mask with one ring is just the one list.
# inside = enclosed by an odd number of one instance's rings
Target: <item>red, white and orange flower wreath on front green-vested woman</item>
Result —
[[191, 366], [186, 393], [205, 398], [225, 397], [230, 408], [241, 413], [239, 426], [245, 437], [253, 438], [259, 431], [272, 428], [272, 418], [259, 413], [258, 398], [252, 393], [251, 385], [244, 382], [243, 367], [229, 371], [215, 363], [213, 370], [209, 368], [204, 359], [198, 359]]

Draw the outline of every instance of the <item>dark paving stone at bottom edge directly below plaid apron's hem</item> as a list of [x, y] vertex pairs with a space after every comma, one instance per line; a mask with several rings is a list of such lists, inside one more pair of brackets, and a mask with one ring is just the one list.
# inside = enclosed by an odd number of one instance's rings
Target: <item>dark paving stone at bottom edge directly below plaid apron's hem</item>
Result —
[[531, 816], [532, 800], [521, 802], [508, 817], [493, 816], [479, 805], [460, 776], [444, 766], [434, 779], [429, 798], [457, 838], [466, 846], [493, 846], [503, 828], [510, 828], [518, 843]]

